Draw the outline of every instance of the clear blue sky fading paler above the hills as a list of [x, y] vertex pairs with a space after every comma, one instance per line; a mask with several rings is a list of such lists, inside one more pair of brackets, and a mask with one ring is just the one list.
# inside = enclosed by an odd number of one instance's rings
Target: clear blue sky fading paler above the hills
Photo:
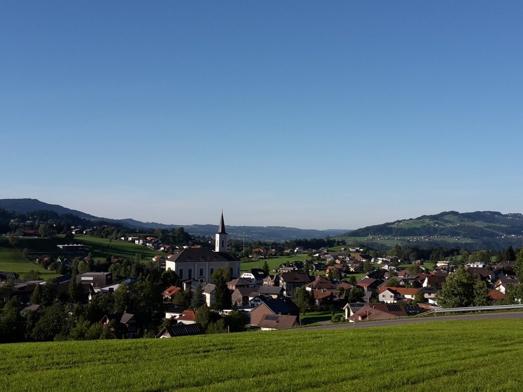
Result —
[[523, 212], [523, 2], [2, 1], [0, 198], [166, 224]]

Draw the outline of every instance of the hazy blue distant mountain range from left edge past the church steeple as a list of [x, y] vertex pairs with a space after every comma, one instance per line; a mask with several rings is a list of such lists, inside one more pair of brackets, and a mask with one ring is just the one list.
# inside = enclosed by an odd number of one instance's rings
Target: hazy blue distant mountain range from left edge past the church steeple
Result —
[[[218, 225], [165, 225], [157, 222], [140, 222], [131, 218], [128, 219], [111, 219], [105, 217], [98, 217], [87, 214], [82, 211], [71, 210], [58, 204], [48, 204], [37, 199], [0, 199], [0, 207], [7, 211], [19, 212], [33, 212], [33, 211], [53, 211], [57, 214], [72, 214], [86, 220], [106, 221], [120, 223], [131, 229], [147, 229], [147, 228], [166, 228], [172, 229], [183, 226], [187, 233], [200, 236], [214, 236], [218, 231]], [[226, 227], [227, 232], [231, 238], [240, 239], [245, 235], [245, 240], [260, 240], [260, 241], [286, 241], [298, 238], [325, 238], [331, 236], [339, 236], [343, 233], [349, 232], [347, 229], [328, 229], [328, 230], [314, 230], [314, 229], [299, 229], [294, 227], [283, 226], [230, 226]]]

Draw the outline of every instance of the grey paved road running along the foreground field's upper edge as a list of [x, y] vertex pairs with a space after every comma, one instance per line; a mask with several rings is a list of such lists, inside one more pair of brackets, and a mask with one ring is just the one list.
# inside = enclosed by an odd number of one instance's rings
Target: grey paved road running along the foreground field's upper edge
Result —
[[339, 329], [339, 328], [369, 328], [369, 327], [384, 327], [398, 324], [411, 324], [413, 322], [435, 322], [445, 320], [476, 320], [476, 319], [499, 319], [499, 318], [523, 318], [523, 312], [505, 312], [505, 313], [482, 313], [474, 315], [459, 315], [459, 316], [428, 316], [417, 318], [402, 318], [396, 320], [382, 320], [382, 321], [365, 321], [365, 322], [350, 322], [347, 324], [333, 324], [318, 327], [304, 327], [296, 328], [295, 331], [312, 330], [312, 329]]

